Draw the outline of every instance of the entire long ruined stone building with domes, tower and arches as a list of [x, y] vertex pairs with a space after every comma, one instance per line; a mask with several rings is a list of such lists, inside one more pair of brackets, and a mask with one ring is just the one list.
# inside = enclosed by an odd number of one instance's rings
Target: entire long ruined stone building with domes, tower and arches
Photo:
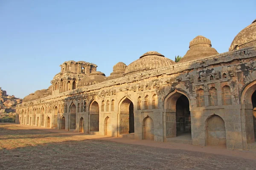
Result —
[[218, 54], [197, 36], [173, 62], [149, 51], [109, 77], [68, 61], [17, 105], [17, 123], [90, 134], [256, 149], [256, 21]]

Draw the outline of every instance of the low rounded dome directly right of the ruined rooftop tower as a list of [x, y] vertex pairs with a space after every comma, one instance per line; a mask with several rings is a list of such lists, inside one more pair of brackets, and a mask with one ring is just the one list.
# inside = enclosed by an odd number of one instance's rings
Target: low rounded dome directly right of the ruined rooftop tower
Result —
[[103, 82], [106, 79], [104, 73], [100, 71], [94, 71], [89, 75], [86, 75], [81, 81], [78, 83], [78, 87], [85, 86], [85, 85], [94, 85], [100, 82]]

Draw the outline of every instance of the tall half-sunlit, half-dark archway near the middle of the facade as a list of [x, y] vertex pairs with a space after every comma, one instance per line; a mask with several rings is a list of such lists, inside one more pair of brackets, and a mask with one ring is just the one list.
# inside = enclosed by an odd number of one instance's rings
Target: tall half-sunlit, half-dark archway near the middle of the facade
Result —
[[134, 105], [125, 98], [119, 109], [119, 134], [134, 133]]

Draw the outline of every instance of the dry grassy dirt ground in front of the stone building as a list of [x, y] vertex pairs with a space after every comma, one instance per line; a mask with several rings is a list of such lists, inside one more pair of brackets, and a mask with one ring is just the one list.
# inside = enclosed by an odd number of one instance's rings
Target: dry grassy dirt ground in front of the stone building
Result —
[[256, 170], [256, 152], [0, 124], [0, 170]]

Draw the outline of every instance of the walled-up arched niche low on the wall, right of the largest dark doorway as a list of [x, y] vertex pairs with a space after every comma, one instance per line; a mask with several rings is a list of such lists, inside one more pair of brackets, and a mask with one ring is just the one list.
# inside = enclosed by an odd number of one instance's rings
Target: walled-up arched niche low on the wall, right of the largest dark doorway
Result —
[[226, 146], [226, 128], [224, 120], [213, 115], [207, 119], [207, 145], [224, 145]]

